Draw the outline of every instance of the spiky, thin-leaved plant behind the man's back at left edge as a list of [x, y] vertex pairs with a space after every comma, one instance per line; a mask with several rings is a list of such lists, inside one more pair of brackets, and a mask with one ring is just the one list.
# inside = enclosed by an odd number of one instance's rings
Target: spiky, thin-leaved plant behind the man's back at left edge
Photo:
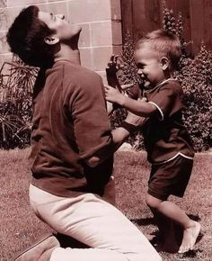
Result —
[[13, 56], [0, 70], [0, 148], [30, 144], [32, 86], [37, 69]]

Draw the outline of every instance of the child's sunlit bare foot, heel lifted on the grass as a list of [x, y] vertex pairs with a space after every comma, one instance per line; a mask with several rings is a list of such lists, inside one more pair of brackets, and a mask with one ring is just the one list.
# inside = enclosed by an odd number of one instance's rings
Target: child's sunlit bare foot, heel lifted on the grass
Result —
[[185, 253], [193, 249], [199, 236], [200, 228], [199, 222], [192, 220], [191, 226], [183, 231], [181, 247], [179, 248], [178, 253]]

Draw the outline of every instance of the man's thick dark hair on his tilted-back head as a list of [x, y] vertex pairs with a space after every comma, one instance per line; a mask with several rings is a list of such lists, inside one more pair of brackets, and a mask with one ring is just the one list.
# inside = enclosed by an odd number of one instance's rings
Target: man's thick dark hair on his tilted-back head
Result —
[[45, 41], [52, 31], [38, 18], [39, 8], [31, 5], [22, 10], [7, 32], [11, 51], [26, 64], [49, 67], [53, 62], [53, 49]]

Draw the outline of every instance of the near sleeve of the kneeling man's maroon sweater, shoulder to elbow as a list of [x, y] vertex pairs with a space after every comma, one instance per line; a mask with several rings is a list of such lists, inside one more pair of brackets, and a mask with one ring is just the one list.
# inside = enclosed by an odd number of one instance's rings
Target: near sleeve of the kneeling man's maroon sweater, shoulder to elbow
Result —
[[112, 154], [110, 121], [104, 99], [102, 78], [90, 72], [74, 86], [69, 102], [74, 121], [75, 141], [80, 157], [100, 157]]

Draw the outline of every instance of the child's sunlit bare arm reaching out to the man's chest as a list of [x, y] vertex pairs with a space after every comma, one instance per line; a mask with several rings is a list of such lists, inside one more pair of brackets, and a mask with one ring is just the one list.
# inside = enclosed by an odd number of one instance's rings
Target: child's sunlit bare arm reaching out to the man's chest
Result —
[[116, 89], [105, 86], [106, 100], [111, 103], [118, 103], [126, 108], [128, 111], [142, 117], [149, 117], [152, 113], [156, 112], [155, 105], [147, 103], [145, 100], [133, 100], [124, 94], [120, 94]]

